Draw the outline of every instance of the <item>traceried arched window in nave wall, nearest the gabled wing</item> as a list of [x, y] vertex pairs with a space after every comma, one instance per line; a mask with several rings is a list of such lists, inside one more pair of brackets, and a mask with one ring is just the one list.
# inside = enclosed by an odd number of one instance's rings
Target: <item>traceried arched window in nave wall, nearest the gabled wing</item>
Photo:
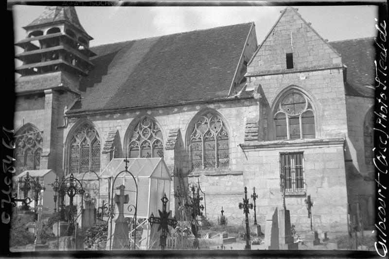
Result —
[[230, 163], [229, 135], [219, 115], [200, 116], [190, 137], [193, 168], [228, 167]]

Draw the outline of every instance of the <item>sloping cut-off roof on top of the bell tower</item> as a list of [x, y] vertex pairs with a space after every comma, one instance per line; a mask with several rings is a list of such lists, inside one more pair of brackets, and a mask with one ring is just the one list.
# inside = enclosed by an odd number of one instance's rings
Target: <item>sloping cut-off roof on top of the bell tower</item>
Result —
[[28, 29], [39, 25], [62, 21], [71, 23], [73, 26], [88, 35], [78, 20], [74, 6], [47, 6], [40, 16], [23, 28]]

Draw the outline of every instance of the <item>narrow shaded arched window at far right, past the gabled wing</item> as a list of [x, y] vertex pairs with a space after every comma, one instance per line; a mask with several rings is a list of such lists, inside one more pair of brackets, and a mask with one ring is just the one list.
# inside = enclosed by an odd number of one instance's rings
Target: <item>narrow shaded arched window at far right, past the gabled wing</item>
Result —
[[374, 128], [374, 113], [372, 109], [366, 114], [363, 122], [363, 143], [365, 146], [365, 163], [368, 167], [373, 166], [373, 128]]

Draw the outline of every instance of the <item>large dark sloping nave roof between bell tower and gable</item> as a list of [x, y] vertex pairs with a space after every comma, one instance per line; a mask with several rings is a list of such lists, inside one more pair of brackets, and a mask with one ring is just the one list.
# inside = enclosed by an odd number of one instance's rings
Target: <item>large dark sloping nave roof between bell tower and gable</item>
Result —
[[68, 114], [228, 98], [251, 25], [92, 47], [84, 98]]

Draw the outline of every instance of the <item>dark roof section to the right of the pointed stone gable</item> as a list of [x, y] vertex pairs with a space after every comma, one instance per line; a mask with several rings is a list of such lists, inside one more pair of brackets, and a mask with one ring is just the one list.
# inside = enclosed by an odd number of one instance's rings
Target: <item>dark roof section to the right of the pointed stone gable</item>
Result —
[[374, 97], [375, 47], [374, 37], [329, 42], [342, 56], [347, 66], [346, 95]]

